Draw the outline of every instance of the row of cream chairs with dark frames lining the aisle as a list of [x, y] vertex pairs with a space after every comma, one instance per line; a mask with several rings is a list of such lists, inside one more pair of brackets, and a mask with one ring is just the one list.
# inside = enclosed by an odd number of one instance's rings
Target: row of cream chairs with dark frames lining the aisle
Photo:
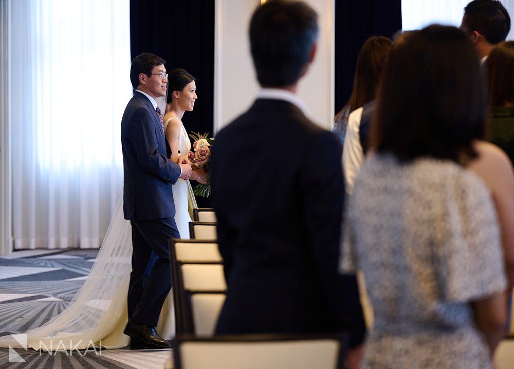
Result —
[[[227, 285], [219, 254], [213, 209], [193, 209], [190, 240], [173, 239], [176, 369], [336, 368], [342, 364], [344, 336], [214, 336]], [[341, 345], [341, 342], [343, 344]]]

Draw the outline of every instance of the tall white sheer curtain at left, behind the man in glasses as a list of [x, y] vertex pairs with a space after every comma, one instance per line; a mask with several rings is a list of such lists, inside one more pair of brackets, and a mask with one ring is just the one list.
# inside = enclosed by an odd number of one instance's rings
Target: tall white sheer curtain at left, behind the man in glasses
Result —
[[122, 190], [128, 0], [8, 0], [14, 248], [99, 247]]

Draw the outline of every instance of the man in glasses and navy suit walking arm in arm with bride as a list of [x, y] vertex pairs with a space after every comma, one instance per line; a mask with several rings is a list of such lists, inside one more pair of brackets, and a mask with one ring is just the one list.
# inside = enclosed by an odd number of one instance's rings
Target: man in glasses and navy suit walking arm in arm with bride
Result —
[[[170, 347], [155, 330], [159, 313], [172, 281], [168, 244], [179, 238], [174, 220], [173, 184], [189, 179], [191, 164], [168, 158], [162, 112], [156, 99], [166, 94], [166, 61], [143, 53], [132, 61], [131, 83], [136, 92], [121, 120], [123, 150], [123, 211], [132, 225], [132, 273], [128, 287], [128, 323], [125, 334], [132, 344]], [[158, 259], [148, 275], [152, 250]], [[143, 284], [143, 279], [145, 283]]]

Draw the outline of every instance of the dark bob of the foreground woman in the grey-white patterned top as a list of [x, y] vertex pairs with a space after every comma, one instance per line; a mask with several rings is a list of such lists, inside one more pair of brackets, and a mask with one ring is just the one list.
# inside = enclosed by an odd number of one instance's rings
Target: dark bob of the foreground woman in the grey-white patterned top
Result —
[[400, 161], [474, 158], [484, 135], [485, 81], [468, 37], [429, 26], [391, 53], [378, 88], [371, 146]]

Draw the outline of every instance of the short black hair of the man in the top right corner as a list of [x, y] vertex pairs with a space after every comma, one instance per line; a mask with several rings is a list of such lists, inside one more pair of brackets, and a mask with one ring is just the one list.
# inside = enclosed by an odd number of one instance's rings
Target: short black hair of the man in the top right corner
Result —
[[510, 16], [498, 0], [473, 0], [464, 8], [463, 23], [469, 32], [477, 31], [488, 43], [505, 41], [510, 31]]

